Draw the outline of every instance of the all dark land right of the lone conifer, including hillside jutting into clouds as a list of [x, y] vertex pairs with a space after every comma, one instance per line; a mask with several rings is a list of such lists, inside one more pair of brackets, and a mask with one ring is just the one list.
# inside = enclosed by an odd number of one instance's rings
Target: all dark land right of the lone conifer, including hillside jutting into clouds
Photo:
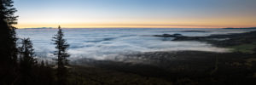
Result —
[[73, 62], [70, 81], [87, 85], [253, 85], [255, 32], [174, 39], [233, 48], [230, 53], [177, 51], [126, 55], [122, 61], [81, 59]]

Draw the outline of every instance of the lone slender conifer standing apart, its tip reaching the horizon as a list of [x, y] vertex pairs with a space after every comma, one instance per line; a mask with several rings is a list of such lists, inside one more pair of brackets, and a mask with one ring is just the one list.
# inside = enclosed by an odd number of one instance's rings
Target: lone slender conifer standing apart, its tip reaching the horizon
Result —
[[55, 48], [57, 51], [55, 51], [55, 55], [57, 56], [56, 62], [57, 62], [57, 78], [58, 78], [58, 84], [59, 85], [65, 85], [67, 84], [67, 65], [68, 65], [68, 57], [70, 56], [67, 54], [67, 48], [69, 47], [69, 44], [67, 44], [66, 39], [64, 39], [64, 34], [61, 30], [61, 26], [59, 26], [59, 31], [53, 37], [54, 44], [56, 45]]

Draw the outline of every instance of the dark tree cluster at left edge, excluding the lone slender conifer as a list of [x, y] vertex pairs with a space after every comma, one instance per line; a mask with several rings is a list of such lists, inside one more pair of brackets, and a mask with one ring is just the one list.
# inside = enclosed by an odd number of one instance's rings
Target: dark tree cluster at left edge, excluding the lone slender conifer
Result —
[[12, 0], [0, 0], [0, 85], [55, 84], [51, 66], [40, 65], [33, 58], [30, 39], [21, 39], [18, 47], [14, 26], [18, 16], [13, 3]]

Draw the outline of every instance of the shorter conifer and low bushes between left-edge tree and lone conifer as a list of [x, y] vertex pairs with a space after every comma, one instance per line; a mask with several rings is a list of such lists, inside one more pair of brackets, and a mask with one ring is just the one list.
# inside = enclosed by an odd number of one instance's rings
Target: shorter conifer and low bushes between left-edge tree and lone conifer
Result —
[[18, 48], [18, 77], [16, 85], [51, 85], [55, 84], [55, 74], [52, 65], [41, 64], [35, 59], [32, 42], [29, 38], [21, 39]]

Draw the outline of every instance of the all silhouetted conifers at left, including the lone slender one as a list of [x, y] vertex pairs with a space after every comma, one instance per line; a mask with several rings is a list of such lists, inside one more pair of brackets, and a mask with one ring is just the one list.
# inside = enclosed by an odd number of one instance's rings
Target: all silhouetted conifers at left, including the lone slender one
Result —
[[[18, 39], [15, 24], [18, 16], [12, 0], [0, 0], [0, 85], [53, 85], [67, 84], [68, 44], [61, 29], [55, 35], [58, 49], [57, 71], [54, 65], [35, 59], [32, 42], [29, 38]], [[20, 40], [18, 42], [18, 40]], [[40, 63], [38, 63], [40, 62]]]

